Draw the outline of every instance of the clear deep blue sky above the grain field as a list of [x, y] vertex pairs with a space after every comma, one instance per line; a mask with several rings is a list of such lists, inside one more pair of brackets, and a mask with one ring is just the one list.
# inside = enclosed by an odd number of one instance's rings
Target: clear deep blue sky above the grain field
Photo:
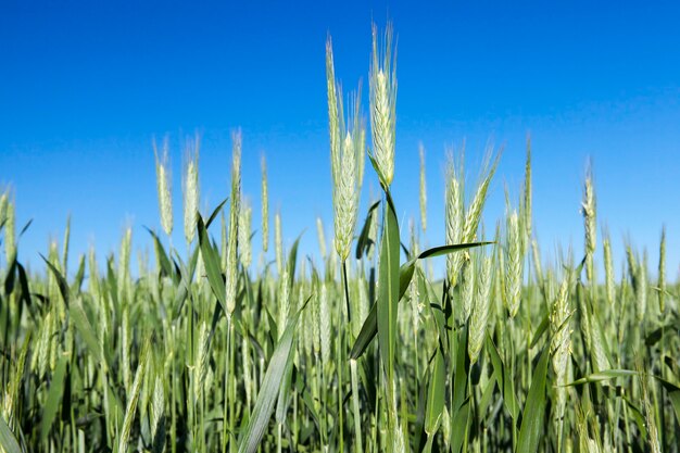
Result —
[[[16, 193], [18, 224], [34, 219], [21, 259], [36, 265], [73, 215], [72, 255], [117, 250], [127, 224], [160, 228], [151, 139], [168, 134], [175, 242], [181, 239], [180, 140], [200, 131], [201, 205], [228, 192], [230, 131], [243, 131], [243, 188], [260, 224], [260, 156], [270, 211], [287, 244], [314, 221], [330, 237], [324, 45], [333, 38], [344, 87], [367, 87], [370, 23], [399, 39], [394, 197], [418, 215], [417, 143], [427, 149], [427, 242], [443, 242], [445, 146], [467, 143], [476, 176], [489, 141], [505, 152], [487, 222], [503, 188], [522, 179], [525, 137], [534, 153], [541, 244], [582, 247], [587, 158], [599, 221], [615, 257], [630, 235], [657, 256], [668, 228], [668, 269], [680, 261], [680, 7], [678, 2], [76, 2], [4, 1], [0, 14], [0, 185]], [[632, 2], [631, 2], [632, 3]], [[365, 90], [366, 92], [367, 90]], [[364, 102], [367, 106], [367, 97]], [[368, 174], [368, 172], [367, 172]], [[365, 183], [364, 203], [375, 178]], [[405, 225], [406, 222], [403, 222]], [[216, 231], [215, 231], [216, 232]], [[259, 238], [256, 250], [259, 250]], [[655, 264], [654, 264], [655, 266]]]

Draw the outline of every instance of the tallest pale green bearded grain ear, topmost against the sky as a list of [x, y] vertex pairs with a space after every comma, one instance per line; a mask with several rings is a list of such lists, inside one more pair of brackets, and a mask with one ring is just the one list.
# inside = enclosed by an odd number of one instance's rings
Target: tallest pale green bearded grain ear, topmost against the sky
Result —
[[373, 152], [380, 181], [389, 187], [394, 177], [394, 137], [396, 108], [396, 53], [392, 53], [392, 27], [385, 33], [383, 49], [378, 50], [378, 29], [373, 26], [370, 64], [370, 127]]

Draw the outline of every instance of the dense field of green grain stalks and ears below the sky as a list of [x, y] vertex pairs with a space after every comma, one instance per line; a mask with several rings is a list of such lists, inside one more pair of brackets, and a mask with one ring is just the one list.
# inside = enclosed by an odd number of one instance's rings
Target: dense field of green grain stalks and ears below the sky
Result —
[[[284, 249], [278, 214], [269, 241], [264, 160], [256, 230], [240, 133], [230, 190], [209, 213], [197, 212], [199, 142], [187, 143], [186, 249], [169, 241], [168, 150], [154, 146], [161, 228], [136, 232], [154, 253], [135, 270], [129, 228], [117, 255], [91, 250], [67, 268], [67, 227], [45, 270], [27, 272], [4, 192], [0, 451], [679, 451], [679, 288], [666, 279], [665, 231], [658, 272], [627, 243], [617, 281], [589, 172], [584, 250], [542, 264], [528, 147], [521, 197], [507, 196], [495, 228], [481, 217], [500, 153], [475, 181], [451, 158], [445, 237], [424, 248], [423, 149], [419, 224], [400, 225], [390, 191], [396, 66], [390, 32], [380, 38], [374, 29], [370, 143], [361, 93], [343, 105], [327, 43], [335, 234], [327, 241], [317, 219], [320, 260], [297, 241]], [[360, 213], [365, 169], [382, 190]], [[428, 260], [444, 255], [435, 279]]]

